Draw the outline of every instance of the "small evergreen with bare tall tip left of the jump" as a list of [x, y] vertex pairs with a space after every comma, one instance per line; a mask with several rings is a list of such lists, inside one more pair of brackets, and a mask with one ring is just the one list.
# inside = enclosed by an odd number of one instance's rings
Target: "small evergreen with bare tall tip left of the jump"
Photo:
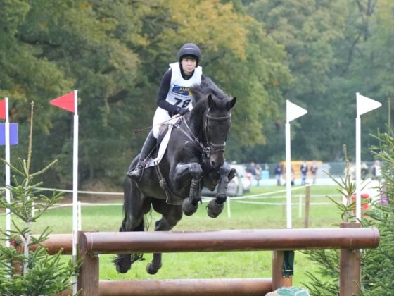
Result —
[[[0, 229], [0, 233], [5, 236], [3, 240], [15, 242], [11, 247], [0, 245], [0, 295], [52, 295], [61, 292], [70, 288], [70, 278], [78, 268], [78, 264], [72, 264], [71, 260], [68, 263], [61, 261], [62, 250], [51, 256], [48, 249], [40, 245], [48, 238], [49, 228], [46, 228], [38, 237], [31, 235], [30, 223], [37, 221], [37, 218], [42, 216], [51, 205], [63, 199], [63, 193], [58, 192], [53, 192], [52, 197], [46, 197], [39, 189], [43, 183], [34, 183], [34, 177], [48, 171], [56, 164], [56, 161], [41, 171], [30, 173], [32, 118], [33, 103], [27, 161], [18, 159], [19, 167], [17, 168], [1, 159], [10, 166], [15, 175], [13, 175], [13, 185], [7, 187], [11, 193], [11, 201], [8, 202], [5, 196], [1, 196], [0, 208], [10, 209], [13, 216], [25, 223], [25, 227], [21, 228], [13, 220], [15, 230], [11, 233]], [[22, 244], [25, 245], [24, 253], [15, 247], [15, 245]], [[29, 251], [32, 245], [38, 247], [34, 251]]]

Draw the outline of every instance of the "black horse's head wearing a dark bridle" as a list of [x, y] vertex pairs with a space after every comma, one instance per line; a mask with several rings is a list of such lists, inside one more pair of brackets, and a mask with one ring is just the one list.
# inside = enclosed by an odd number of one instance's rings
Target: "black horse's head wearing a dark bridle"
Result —
[[236, 97], [218, 99], [208, 94], [207, 102], [204, 133], [210, 147], [210, 164], [214, 168], [219, 168], [224, 164], [224, 148], [231, 125], [231, 109], [235, 106]]

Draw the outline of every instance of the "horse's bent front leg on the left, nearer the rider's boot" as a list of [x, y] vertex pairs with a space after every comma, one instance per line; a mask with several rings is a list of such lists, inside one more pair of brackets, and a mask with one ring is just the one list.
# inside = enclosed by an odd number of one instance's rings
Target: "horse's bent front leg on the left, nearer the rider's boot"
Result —
[[184, 182], [179, 180], [185, 180], [190, 178], [191, 183], [189, 190], [189, 197], [184, 200], [182, 209], [186, 216], [191, 216], [197, 211], [198, 202], [201, 202], [201, 175], [203, 175], [203, 168], [198, 162], [192, 162], [190, 164], [178, 164], [176, 168], [178, 184], [184, 185]]

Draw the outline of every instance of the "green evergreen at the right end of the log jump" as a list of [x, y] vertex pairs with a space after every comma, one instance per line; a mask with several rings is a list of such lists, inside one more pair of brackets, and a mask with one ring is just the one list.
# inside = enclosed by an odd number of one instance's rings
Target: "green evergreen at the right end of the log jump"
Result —
[[[376, 249], [364, 249], [362, 251], [362, 286], [360, 292], [365, 296], [393, 295], [394, 291], [394, 132], [388, 128], [388, 132], [377, 132], [375, 137], [379, 145], [371, 147], [375, 158], [382, 162], [381, 174], [383, 179], [379, 186], [381, 200], [385, 203], [373, 202], [372, 209], [367, 211], [367, 216], [362, 219], [362, 227], [376, 227], [379, 229], [381, 241]], [[345, 193], [350, 200], [354, 194], [355, 185], [348, 179], [338, 183], [341, 194]], [[333, 200], [333, 199], [331, 199]], [[335, 202], [335, 201], [333, 201]], [[355, 203], [348, 205], [335, 202], [341, 209], [344, 221], [355, 221], [352, 215]], [[338, 252], [334, 250], [318, 250], [305, 252], [312, 261], [319, 265], [319, 275], [329, 280], [322, 281], [312, 273], [307, 273], [309, 283], [304, 285], [310, 290], [311, 295], [339, 295]]]

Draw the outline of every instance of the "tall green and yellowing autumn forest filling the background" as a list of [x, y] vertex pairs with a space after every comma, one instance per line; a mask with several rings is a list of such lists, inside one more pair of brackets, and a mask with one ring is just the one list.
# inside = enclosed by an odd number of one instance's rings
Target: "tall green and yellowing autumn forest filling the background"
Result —
[[[74, 89], [80, 105], [80, 184], [119, 185], [145, 140], [168, 63], [198, 44], [203, 72], [237, 97], [227, 158], [285, 157], [285, 103], [293, 159], [354, 154], [355, 92], [383, 106], [362, 116], [369, 133], [390, 123], [394, 93], [392, 0], [0, 0], [0, 97], [9, 97], [24, 157], [34, 101], [32, 170], [59, 160], [46, 184], [72, 182], [72, 114], [49, 101]], [[4, 147], [0, 148], [4, 155]], [[4, 156], [3, 156], [4, 157]]]

